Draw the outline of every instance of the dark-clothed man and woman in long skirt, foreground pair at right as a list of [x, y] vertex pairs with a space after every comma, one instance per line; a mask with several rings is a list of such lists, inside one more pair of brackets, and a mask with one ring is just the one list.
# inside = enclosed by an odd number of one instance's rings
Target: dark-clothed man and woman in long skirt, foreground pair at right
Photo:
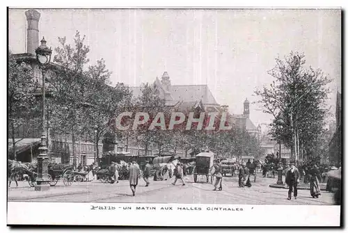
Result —
[[[314, 163], [308, 170], [309, 182], [310, 182], [310, 195], [312, 198], [319, 198], [320, 188], [319, 188], [319, 169], [318, 166]], [[291, 200], [292, 193], [294, 193], [294, 199], [297, 199], [297, 185], [300, 182], [300, 172], [294, 165], [294, 163], [290, 163], [290, 169], [286, 173], [285, 183], [289, 186], [289, 191], [287, 193], [287, 200]]]

